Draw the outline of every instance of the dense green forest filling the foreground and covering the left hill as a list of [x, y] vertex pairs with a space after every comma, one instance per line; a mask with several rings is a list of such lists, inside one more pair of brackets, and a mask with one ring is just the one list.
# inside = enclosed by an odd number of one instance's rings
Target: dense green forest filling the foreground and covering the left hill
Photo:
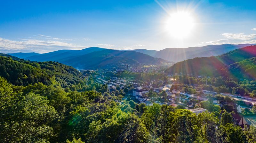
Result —
[[[81, 78], [74, 68], [56, 62], [0, 58], [0, 142], [256, 141], [256, 127], [242, 130], [233, 124], [228, 112], [219, 117], [209, 112], [196, 115], [167, 105], [120, 104], [114, 101], [118, 94], [109, 94], [106, 85], [95, 83], [92, 75]], [[12, 72], [17, 76], [12, 76]], [[24, 75], [27, 78], [23, 79]], [[68, 84], [71, 82], [73, 85]], [[128, 107], [133, 110], [127, 110]]]

